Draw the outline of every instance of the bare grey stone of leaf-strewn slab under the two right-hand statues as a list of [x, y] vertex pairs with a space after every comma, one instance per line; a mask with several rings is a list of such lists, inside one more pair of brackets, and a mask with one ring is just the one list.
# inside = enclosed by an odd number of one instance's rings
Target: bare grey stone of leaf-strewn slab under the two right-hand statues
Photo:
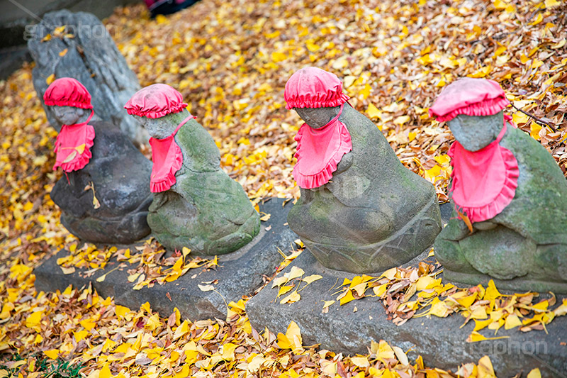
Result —
[[[427, 253], [412, 260], [415, 266]], [[301, 329], [303, 345], [320, 344], [320, 348], [342, 352], [345, 355], [366, 354], [371, 341], [386, 340], [403, 350], [410, 350], [410, 361], [418, 355], [425, 365], [451, 369], [453, 372], [466, 362], [478, 362], [484, 355], [490, 356], [498, 377], [512, 377], [539, 367], [542, 377], [561, 377], [567, 371], [567, 317], [556, 318], [544, 331], [522, 333], [517, 328], [498, 330], [498, 336], [510, 335], [502, 340], [466, 343], [473, 330], [471, 321], [460, 328], [465, 318], [453, 314], [447, 318], [411, 318], [402, 326], [388, 320], [381, 301], [365, 297], [339, 306], [336, 302], [328, 313], [322, 313], [323, 301], [334, 300], [334, 290], [344, 278], [354, 274], [337, 272], [320, 265], [309, 253], [303, 252], [286, 267], [301, 267], [305, 276], [320, 274], [322, 279], [301, 291], [301, 299], [293, 304], [280, 304], [276, 300], [278, 289], [264, 287], [247, 302], [246, 310], [252, 326], [257, 330], [269, 328], [273, 333], [285, 333], [291, 321]], [[405, 265], [407, 266], [407, 265]], [[338, 282], [338, 284], [337, 284]], [[484, 281], [486, 284], [488, 281]], [[558, 297], [558, 303], [561, 303]], [[523, 376], [522, 376], [523, 377]]]

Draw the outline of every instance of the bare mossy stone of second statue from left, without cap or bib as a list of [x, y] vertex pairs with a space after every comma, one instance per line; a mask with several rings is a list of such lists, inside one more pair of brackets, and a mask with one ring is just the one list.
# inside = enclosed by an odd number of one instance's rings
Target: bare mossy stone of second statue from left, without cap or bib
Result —
[[[145, 118], [152, 136], [171, 135], [189, 112]], [[155, 126], [155, 127], [154, 127]], [[158, 127], [160, 126], [160, 127]], [[155, 130], [164, 128], [164, 135]], [[181, 126], [175, 142], [183, 153], [176, 183], [155, 194], [147, 221], [159, 243], [195, 255], [223, 255], [242, 248], [259, 232], [259, 214], [242, 186], [220, 168], [220, 152], [200, 123]]]

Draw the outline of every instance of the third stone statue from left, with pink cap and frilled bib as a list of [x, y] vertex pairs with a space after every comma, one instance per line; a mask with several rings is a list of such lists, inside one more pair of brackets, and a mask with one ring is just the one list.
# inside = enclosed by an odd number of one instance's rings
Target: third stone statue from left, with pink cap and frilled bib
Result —
[[305, 121], [293, 168], [301, 198], [288, 223], [317, 260], [374, 273], [430, 248], [441, 230], [433, 185], [403, 167], [376, 125], [348, 104], [335, 74], [303, 68], [285, 99]]

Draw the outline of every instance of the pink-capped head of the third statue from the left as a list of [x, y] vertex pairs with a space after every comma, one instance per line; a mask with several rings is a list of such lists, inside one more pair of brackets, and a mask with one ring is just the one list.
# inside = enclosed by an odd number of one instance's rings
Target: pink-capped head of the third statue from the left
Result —
[[295, 72], [286, 83], [286, 108], [295, 110], [311, 128], [321, 128], [339, 113], [349, 97], [337, 75], [317, 67]]

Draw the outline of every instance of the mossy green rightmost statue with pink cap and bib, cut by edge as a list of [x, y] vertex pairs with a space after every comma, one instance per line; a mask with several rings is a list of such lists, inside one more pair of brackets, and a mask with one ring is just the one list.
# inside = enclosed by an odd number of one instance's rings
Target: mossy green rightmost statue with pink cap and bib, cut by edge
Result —
[[[567, 182], [549, 152], [511, 123], [498, 83], [460, 79], [430, 116], [449, 124], [455, 210], [435, 240], [447, 279], [567, 293]], [[467, 226], [468, 223], [468, 226]]]

